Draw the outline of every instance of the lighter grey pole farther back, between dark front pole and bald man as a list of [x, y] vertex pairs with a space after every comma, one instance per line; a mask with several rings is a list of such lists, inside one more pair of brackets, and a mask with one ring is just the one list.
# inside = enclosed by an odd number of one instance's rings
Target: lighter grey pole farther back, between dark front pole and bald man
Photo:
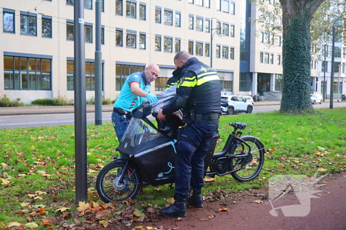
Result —
[[95, 125], [102, 125], [101, 0], [96, 0]]

